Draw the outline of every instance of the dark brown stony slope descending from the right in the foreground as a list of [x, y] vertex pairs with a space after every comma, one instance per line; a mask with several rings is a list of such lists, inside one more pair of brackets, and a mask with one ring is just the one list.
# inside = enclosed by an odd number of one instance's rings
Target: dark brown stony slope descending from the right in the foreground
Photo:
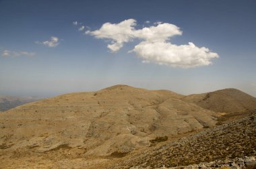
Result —
[[245, 156], [256, 156], [256, 112], [250, 117], [220, 125], [214, 129], [206, 129], [156, 148], [129, 154], [119, 162], [109, 164], [108, 168], [186, 166]]

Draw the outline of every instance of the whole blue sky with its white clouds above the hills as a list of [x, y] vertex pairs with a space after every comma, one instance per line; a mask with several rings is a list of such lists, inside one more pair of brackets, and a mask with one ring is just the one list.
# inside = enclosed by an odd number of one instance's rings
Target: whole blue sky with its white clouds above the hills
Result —
[[256, 97], [256, 1], [0, 0], [0, 95], [115, 84]]

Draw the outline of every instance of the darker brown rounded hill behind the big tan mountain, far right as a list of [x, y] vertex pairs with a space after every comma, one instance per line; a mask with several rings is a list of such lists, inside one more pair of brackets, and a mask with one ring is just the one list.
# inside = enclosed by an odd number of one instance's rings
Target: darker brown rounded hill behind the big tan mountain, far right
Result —
[[198, 95], [188, 95], [183, 97], [182, 100], [195, 103], [195, 105], [211, 111], [223, 113], [237, 113], [256, 109], [256, 98], [237, 89], [223, 89]]

